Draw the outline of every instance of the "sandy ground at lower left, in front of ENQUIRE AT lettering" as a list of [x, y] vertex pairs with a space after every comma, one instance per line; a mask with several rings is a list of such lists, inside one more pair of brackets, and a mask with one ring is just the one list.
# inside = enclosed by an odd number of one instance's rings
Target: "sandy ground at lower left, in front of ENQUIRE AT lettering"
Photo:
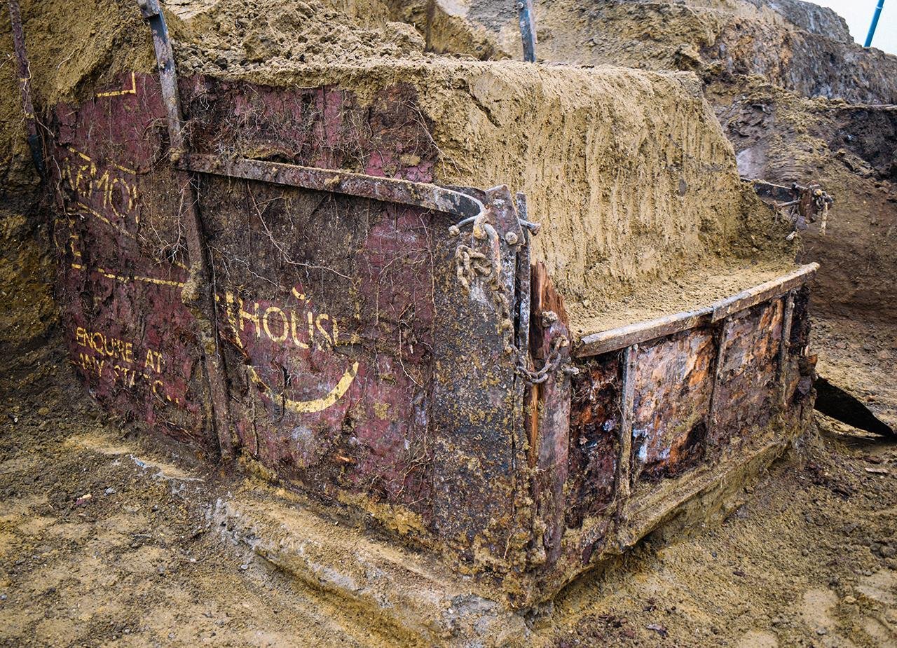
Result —
[[206, 514], [227, 484], [204, 462], [109, 421], [55, 353], [39, 366], [55, 377], [33, 396], [4, 390], [0, 644], [389, 644], [226, 542]]

